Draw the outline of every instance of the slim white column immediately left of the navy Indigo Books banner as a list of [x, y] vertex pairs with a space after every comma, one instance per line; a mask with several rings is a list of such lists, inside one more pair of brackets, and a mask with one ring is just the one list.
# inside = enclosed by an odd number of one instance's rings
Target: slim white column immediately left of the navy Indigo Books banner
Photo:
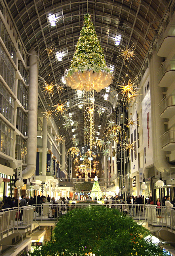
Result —
[[46, 175], [47, 162], [47, 119], [43, 117], [43, 153], [42, 153], [42, 175]]

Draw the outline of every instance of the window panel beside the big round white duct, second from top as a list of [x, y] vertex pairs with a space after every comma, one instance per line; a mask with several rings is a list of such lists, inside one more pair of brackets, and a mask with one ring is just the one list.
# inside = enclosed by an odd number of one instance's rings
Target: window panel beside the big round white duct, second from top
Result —
[[28, 109], [28, 91], [21, 80], [18, 80], [18, 100], [22, 106]]

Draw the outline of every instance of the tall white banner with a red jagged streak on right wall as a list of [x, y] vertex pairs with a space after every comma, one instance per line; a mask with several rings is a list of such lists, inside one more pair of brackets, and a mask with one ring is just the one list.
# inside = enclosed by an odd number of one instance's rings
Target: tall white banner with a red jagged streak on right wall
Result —
[[142, 130], [144, 148], [144, 167], [153, 164], [152, 127], [151, 127], [151, 97], [150, 90], [142, 101]]

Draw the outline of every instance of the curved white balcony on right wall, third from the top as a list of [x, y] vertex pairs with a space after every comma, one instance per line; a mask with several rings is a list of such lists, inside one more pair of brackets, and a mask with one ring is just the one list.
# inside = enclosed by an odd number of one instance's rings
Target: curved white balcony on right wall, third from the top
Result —
[[166, 95], [158, 105], [160, 107], [160, 117], [171, 118], [175, 115], [175, 94]]

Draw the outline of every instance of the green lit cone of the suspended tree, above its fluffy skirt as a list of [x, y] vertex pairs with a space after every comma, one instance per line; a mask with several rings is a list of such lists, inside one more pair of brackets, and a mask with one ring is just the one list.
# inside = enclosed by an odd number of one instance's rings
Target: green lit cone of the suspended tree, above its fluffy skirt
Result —
[[89, 69], [94, 72], [100, 70], [110, 72], [110, 69], [106, 66], [103, 49], [100, 46], [91, 17], [87, 13], [84, 15], [83, 28], [67, 76], [71, 76], [79, 70], [83, 72]]

